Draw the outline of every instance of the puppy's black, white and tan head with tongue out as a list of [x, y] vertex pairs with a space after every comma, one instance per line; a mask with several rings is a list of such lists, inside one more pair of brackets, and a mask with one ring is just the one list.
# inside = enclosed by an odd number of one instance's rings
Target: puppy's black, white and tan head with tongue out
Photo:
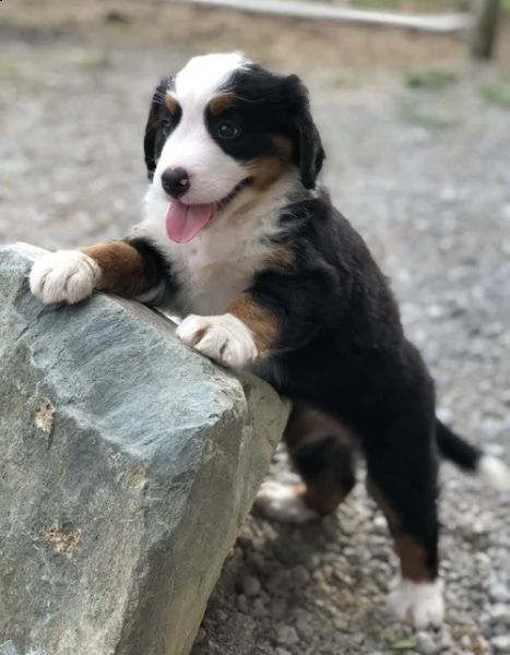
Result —
[[293, 172], [312, 189], [324, 157], [299, 78], [237, 52], [195, 57], [162, 81], [144, 147], [149, 177], [170, 203], [168, 234], [181, 241], [234, 198], [263, 193]]

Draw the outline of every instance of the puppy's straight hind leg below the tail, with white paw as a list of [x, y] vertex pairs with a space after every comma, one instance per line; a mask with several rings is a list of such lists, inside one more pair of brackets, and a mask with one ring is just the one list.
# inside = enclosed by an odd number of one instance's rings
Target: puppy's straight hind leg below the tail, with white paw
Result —
[[441, 623], [444, 611], [438, 579], [438, 456], [434, 426], [410, 420], [407, 413], [400, 425], [379, 426], [364, 440], [367, 489], [386, 515], [400, 559], [401, 580], [389, 604], [417, 628]]

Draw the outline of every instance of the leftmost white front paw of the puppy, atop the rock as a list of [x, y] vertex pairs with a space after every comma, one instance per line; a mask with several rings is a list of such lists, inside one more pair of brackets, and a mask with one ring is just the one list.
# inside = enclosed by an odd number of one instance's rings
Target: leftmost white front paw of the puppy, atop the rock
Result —
[[43, 302], [80, 302], [88, 298], [100, 277], [100, 269], [79, 250], [44, 254], [31, 271], [31, 290]]

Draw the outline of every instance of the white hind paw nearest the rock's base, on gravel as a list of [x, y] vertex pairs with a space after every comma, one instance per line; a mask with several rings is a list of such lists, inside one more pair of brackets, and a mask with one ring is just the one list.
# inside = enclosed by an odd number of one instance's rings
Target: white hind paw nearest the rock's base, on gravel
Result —
[[297, 487], [265, 480], [254, 504], [268, 519], [284, 523], [307, 523], [319, 519], [318, 512], [307, 507], [297, 491]]

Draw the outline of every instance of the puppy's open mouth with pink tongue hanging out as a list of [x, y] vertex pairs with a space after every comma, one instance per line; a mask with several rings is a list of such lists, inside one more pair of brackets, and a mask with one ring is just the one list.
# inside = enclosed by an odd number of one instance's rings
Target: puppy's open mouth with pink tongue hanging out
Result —
[[207, 223], [248, 184], [245, 178], [234, 189], [217, 202], [206, 204], [185, 204], [173, 200], [166, 215], [166, 234], [176, 243], [188, 243], [201, 231]]

